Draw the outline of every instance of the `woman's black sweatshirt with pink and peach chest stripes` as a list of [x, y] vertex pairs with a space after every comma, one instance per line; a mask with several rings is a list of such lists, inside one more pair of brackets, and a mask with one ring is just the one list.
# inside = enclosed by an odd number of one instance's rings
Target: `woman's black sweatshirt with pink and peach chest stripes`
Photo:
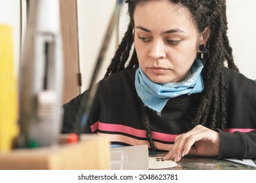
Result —
[[[106, 134], [112, 144], [148, 144], [142, 106], [134, 80], [136, 69], [115, 73], [99, 82], [85, 133]], [[227, 129], [220, 133], [219, 158], [256, 158], [256, 82], [225, 68]], [[88, 92], [64, 105], [63, 133], [73, 131], [77, 112]], [[161, 116], [149, 110], [152, 138], [158, 150], [170, 150], [177, 135], [192, 129], [200, 93], [168, 100]]]

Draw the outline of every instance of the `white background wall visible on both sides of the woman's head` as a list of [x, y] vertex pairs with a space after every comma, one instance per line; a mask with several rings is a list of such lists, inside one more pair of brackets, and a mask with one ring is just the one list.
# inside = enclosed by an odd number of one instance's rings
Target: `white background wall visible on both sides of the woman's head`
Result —
[[[114, 6], [115, 0], [77, 0], [82, 92], [88, 88], [90, 75]], [[254, 56], [254, 44], [256, 42], [255, 8], [255, 0], [227, 0], [228, 33], [234, 59], [240, 68], [240, 72], [251, 79], [256, 79], [256, 61]], [[120, 38], [126, 31], [127, 23], [128, 16], [126, 14], [126, 7], [124, 7], [120, 18]], [[107, 65], [115, 52], [114, 39], [116, 37], [113, 37], [99, 79], [105, 74]]]

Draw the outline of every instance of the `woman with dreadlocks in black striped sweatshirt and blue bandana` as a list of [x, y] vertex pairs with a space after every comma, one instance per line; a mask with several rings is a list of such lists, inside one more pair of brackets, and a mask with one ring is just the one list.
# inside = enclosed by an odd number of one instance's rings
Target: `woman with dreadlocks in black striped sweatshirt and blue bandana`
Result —
[[[115, 145], [148, 144], [174, 161], [256, 158], [256, 84], [234, 64], [226, 2], [126, 3], [130, 24], [98, 84], [86, 133], [106, 134]], [[64, 105], [64, 133], [73, 131], [87, 94]]]

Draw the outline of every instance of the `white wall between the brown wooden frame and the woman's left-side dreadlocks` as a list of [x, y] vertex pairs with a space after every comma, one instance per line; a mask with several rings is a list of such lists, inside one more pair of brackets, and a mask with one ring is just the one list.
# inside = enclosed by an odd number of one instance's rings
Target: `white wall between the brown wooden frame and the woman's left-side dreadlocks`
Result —
[[[109, 20], [116, 0], [77, 0], [79, 30], [79, 63], [82, 73], [81, 92], [90, 84], [92, 71], [100, 52]], [[116, 49], [116, 32], [113, 33], [105, 60], [102, 63], [100, 78], [103, 77]]]

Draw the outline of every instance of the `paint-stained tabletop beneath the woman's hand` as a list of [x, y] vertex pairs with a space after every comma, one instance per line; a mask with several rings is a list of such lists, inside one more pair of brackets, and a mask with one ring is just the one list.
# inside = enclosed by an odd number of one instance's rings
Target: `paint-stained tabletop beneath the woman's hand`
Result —
[[[163, 157], [166, 154], [149, 154], [151, 157]], [[253, 159], [256, 163], [256, 159]], [[217, 159], [217, 157], [202, 156], [186, 156], [177, 162], [177, 166], [170, 168], [173, 170], [256, 170], [256, 167], [227, 161], [225, 159]]]

